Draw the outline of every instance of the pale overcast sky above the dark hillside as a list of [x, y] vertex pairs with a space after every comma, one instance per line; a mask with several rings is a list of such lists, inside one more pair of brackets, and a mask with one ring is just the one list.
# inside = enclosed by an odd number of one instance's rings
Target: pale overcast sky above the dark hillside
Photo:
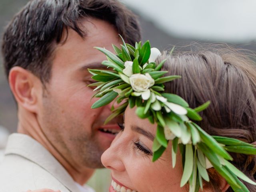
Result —
[[168, 33], [214, 41], [256, 40], [256, 0], [121, 0]]

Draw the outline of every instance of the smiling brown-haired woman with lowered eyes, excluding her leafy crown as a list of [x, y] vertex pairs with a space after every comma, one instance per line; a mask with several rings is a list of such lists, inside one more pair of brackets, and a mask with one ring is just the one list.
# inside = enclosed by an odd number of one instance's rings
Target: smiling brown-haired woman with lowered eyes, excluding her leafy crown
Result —
[[[165, 83], [164, 92], [177, 94], [191, 108], [210, 100], [196, 123], [210, 135], [236, 138], [247, 143], [256, 141], [256, 67], [246, 57], [230, 50], [198, 51], [177, 55], [163, 54], [167, 59], [162, 70], [182, 78]], [[110, 192], [187, 192], [180, 187], [182, 156], [177, 153], [172, 168], [172, 143], [162, 156], [152, 162], [153, 140], [157, 124], [141, 119], [136, 108], [127, 107], [124, 125], [110, 148], [102, 155], [102, 163], [111, 170]], [[232, 164], [255, 182], [256, 157], [231, 153]], [[211, 167], [211, 166], [210, 166]], [[210, 182], [203, 181], [203, 191], [233, 192], [215, 168], [208, 168]], [[250, 192], [256, 186], [243, 182]]]

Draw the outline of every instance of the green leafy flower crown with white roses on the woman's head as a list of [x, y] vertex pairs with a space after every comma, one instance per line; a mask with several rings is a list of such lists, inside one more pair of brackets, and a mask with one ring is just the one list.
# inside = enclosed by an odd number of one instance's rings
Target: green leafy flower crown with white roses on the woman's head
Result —
[[164, 93], [164, 83], [181, 76], [164, 76], [168, 71], [161, 71], [161, 68], [166, 60], [156, 65], [160, 51], [150, 48], [149, 41], [143, 45], [136, 42], [135, 47], [125, 43], [123, 38], [122, 41], [121, 49], [113, 45], [116, 54], [96, 47], [106, 55], [107, 60], [102, 65], [113, 71], [88, 69], [92, 78], [98, 81], [89, 86], [96, 86], [94, 91], [98, 92], [94, 97], [100, 97], [92, 108], [107, 105], [115, 99], [117, 103], [124, 100], [118, 108], [112, 106], [113, 113], [105, 123], [122, 114], [128, 105], [130, 108], [136, 106], [136, 114], [140, 118], [148, 118], [152, 124], [156, 123], [152, 161], [162, 155], [171, 140], [172, 167], [176, 164], [178, 148], [182, 155], [180, 187], [189, 183], [189, 191], [198, 192], [200, 188], [203, 189], [202, 179], [209, 182], [206, 169], [214, 167], [235, 192], [249, 192], [238, 178], [250, 184], [256, 183], [229, 162], [233, 159], [228, 152], [255, 155], [255, 146], [233, 138], [207, 134], [192, 120], [202, 120], [198, 112], [206, 109], [210, 102], [192, 109], [180, 96]]

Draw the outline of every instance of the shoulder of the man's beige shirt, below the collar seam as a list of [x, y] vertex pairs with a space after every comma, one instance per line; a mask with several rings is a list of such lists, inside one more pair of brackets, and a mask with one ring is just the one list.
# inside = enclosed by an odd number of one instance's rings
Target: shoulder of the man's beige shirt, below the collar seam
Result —
[[0, 183], [1, 192], [22, 192], [41, 188], [68, 192], [66, 187], [44, 168], [15, 154], [5, 156], [0, 164]]

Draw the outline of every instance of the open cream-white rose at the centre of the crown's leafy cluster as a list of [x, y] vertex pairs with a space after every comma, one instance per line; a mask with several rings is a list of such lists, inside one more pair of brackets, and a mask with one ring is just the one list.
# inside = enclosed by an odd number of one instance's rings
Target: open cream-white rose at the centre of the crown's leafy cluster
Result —
[[145, 92], [155, 84], [150, 74], [133, 74], [130, 78], [132, 89], [136, 92]]

